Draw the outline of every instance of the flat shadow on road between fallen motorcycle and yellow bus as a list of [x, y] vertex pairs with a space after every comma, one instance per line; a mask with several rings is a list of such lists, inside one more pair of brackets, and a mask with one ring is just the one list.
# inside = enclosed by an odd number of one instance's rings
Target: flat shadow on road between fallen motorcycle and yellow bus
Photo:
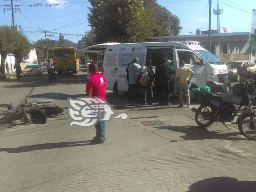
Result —
[[38, 99], [58, 99], [58, 100], [67, 100], [67, 98], [77, 98], [85, 97], [85, 94], [69, 95], [64, 93], [43, 93], [37, 95], [29, 95], [28, 98], [38, 98]]

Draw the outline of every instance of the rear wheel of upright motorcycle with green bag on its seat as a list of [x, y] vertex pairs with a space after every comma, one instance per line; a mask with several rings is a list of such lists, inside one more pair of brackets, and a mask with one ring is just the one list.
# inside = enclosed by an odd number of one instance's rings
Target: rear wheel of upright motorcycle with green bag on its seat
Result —
[[195, 122], [201, 128], [207, 128], [214, 122], [214, 113], [211, 106], [200, 105], [197, 109], [202, 114], [195, 113]]

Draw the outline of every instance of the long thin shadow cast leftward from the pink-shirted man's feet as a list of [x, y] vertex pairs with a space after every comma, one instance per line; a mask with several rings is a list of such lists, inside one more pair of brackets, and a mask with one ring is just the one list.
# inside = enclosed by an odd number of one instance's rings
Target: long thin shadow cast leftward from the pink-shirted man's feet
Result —
[[43, 143], [43, 144], [36, 144], [36, 145], [27, 145], [27, 146], [22, 146], [17, 148], [2, 148], [0, 149], [0, 152], [6, 151], [8, 153], [21, 153], [21, 152], [45, 150], [45, 149], [56, 149], [56, 148], [63, 148], [63, 147], [77, 147], [77, 146], [90, 145], [90, 141], [91, 140], [61, 142], [61, 143]]

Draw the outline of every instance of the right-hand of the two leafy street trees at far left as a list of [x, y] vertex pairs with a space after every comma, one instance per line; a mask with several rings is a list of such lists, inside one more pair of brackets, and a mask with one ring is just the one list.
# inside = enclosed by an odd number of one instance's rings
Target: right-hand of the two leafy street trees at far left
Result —
[[15, 65], [20, 66], [23, 59], [28, 57], [32, 45], [28, 41], [27, 37], [22, 35], [19, 31], [16, 31], [15, 33], [15, 47], [12, 50], [12, 53], [15, 57]]

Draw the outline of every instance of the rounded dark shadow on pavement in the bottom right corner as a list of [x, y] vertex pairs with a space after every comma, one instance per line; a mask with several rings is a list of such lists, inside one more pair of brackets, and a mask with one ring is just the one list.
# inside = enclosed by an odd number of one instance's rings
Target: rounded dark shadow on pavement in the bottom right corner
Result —
[[252, 192], [256, 181], [238, 181], [233, 177], [212, 177], [193, 183], [187, 192]]

